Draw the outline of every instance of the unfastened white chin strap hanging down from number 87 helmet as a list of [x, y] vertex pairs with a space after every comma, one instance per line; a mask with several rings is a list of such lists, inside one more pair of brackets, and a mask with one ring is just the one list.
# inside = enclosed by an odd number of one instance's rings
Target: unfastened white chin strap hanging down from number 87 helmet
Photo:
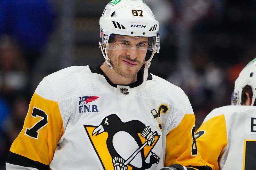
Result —
[[163, 123], [163, 121], [161, 120], [161, 118], [159, 117], [158, 113], [156, 112], [156, 109], [154, 108], [152, 102], [149, 100], [148, 93], [147, 93], [147, 90], [146, 90], [146, 82], [147, 82], [147, 79], [148, 79], [148, 68], [149, 68], [149, 66], [151, 64], [150, 61], [152, 60], [152, 58], [155, 55], [155, 53], [156, 53], [156, 51], [153, 51], [152, 54], [151, 54], [151, 57], [147, 61], [144, 62], [145, 68], [144, 68], [144, 72], [143, 72], [143, 84], [144, 84], [146, 98], [147, 98], [147, 101], [148, 101], [148, 106], [150, 108], [150, 112], [152, 113], [152, 115], [154, 116], [156, 121], [159, 124], [161, 124], [161, 123]]

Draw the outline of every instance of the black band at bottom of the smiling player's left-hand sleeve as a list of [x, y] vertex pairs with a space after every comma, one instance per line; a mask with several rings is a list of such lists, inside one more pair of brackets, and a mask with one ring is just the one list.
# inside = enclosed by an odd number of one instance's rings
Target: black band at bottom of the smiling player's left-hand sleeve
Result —
[[13, 165], [20, 165], [25, 167], [31, 167], [36, 168], [38, 170], [49, 170], [49, 165], [42, 164], [41, 162], [37, 162], [31, 159], [28, 159], [24, 156], [18, 155], [13, 152], [9, 152], [7, 163], [13, 164]]

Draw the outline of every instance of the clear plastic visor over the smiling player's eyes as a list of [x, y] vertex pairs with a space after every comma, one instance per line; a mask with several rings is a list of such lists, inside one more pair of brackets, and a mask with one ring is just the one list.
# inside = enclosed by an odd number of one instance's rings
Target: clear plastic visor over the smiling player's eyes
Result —
[[[150, 50], [159, 52], [159, 44], [157, 44], [156, 37], [136, 37], [111, 34], [109, 36], [108, 44], [106, 46], [109, 50], [116, 49], [136, 49], [136, 50]], [[159, 37], [160, 39], [160, 37]], [[157, 47], [159, 46], [159, 48]]]

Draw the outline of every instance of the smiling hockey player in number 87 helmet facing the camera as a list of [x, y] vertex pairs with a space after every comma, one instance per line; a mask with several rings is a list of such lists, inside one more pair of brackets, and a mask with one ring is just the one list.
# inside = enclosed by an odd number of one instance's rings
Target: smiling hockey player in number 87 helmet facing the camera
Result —
[[188, 97], [148, 74], [160, 48], [158, 26], [142, 0], [107, 4], [100, 18], [106, 61], [41, 81], [6, 169], [212, 169], [197, 152]]

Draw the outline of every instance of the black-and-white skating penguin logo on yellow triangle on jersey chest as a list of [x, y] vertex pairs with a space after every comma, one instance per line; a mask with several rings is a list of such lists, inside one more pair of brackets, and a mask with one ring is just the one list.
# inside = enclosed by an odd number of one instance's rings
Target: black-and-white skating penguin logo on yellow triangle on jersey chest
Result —
[[138, 120], [122, 122], [112, 114], [84, 129], [105, 170], [145, 170], [160, 160], [152, 152], [160, 135]]

